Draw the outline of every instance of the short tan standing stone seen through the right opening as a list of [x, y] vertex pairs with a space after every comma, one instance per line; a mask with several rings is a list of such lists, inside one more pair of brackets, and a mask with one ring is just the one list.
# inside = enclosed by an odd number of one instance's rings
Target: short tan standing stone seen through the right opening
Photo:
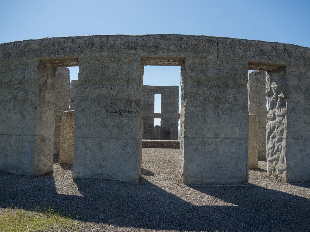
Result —
[[258, 167], [259, 128], [256, 115], [249, 115], [249, 168]]

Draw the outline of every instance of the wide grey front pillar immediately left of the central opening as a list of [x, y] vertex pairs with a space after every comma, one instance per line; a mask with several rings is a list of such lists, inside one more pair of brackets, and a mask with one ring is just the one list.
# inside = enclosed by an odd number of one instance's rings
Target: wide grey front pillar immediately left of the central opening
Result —
[[139, 180], [142, 76], [140, 58], [79, 58], [73, 178]]

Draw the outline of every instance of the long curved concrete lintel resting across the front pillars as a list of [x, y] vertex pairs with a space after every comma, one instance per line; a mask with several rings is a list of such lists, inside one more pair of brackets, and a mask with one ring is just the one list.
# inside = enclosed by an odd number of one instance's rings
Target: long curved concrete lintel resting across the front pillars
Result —
[[[248, 61], [251, 69], [285, 65], [310, 67], [310, 48], [275, 42], [191, 35], [98, 35], [44, 38], [0, 44], [0, 62], [40, 59], [77, 65], [84, 56], [135, 56], [149, 60], [204, 57]], [[155, 59], [154, 59], [155, 58]], [[172, 58], [172, 59], [171, 59]], [[165, 62], [162, 65], [166, 65]], [[172, 65], [172, 64], [170, 64]], [[175, 63], [175, 65], [179, 65]]]

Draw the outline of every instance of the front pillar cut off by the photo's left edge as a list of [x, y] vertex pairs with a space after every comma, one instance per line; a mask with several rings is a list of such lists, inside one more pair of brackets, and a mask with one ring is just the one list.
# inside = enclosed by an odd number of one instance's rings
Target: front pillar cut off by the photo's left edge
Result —
[[38, 61], [0, 65], [0, 170], [52, 170], [56, 68]]

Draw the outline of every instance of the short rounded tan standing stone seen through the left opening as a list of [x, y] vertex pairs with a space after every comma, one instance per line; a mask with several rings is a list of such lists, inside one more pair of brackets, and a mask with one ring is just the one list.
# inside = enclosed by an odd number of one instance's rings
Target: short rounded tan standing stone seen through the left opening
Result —
[[59, 163], [72, 164], [74, 141], [74, 110], [64, 111], [60, 130]]

